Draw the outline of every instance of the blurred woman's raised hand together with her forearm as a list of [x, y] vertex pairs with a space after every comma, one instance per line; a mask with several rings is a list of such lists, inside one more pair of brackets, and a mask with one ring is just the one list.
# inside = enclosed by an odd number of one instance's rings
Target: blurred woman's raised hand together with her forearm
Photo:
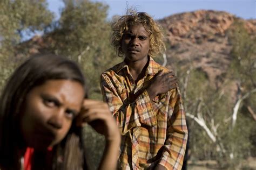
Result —
[[84, 100], [83, 108], [77, 117], [77, 125], [83, 126], [85, 123], [89, 123], [93, 129], [106, 138], [103, 157], [98, 169], [117, 169], [121, 136], [109, 106], [100, 101]]

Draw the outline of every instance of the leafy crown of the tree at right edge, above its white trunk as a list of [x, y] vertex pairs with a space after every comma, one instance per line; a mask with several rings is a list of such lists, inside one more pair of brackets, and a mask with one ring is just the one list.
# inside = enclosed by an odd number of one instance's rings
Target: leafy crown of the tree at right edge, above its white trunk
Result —
[[256, 87], [256, 37], [251, 37], [244, 25], [235, 20], [227, 34], [233, 58], [230, 77], [248, 89]]

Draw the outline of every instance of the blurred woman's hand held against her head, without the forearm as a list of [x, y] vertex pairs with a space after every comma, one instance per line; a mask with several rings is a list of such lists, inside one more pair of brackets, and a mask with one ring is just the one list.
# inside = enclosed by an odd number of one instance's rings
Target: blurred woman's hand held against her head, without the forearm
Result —
[[77, 125], [83, 126], [84, 123], [89, 123], [98, 133], [103, 134], [106, 140], [120, 138], [118, 126], [107, 103], [84, 100], [82, 110], [77, 117]]

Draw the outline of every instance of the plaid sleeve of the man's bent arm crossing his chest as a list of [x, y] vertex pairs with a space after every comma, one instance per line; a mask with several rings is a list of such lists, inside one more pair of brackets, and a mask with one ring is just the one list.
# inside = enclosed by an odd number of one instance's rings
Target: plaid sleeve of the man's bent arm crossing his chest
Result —
[[113, 117], [119, 126], [122, 135], [129, 132], [132, 128], [145, 124], [154, 126], [157, 124], [149, 94], [144, 90], [136, 100], [129, 102], [129, 98], [122, 101], [115, 88], [112, 77], [107, 74], [100, 76], [100, 88], [102, 90], [103, 100], [107, 102]]

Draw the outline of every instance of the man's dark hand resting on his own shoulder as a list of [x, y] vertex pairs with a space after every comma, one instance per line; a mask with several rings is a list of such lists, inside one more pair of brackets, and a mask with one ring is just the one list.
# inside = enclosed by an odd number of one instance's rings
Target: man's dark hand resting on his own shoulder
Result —
[[160, 70], [154, 75], [152, 82], [146, 89], [150, 96], [150, 100], [153, 100], [153, 98], [159, 94], [166, 93], [167, 91], [176, 88], [177, 83], [178, 78], [173, 72], [163, 73], [163, 70]]

